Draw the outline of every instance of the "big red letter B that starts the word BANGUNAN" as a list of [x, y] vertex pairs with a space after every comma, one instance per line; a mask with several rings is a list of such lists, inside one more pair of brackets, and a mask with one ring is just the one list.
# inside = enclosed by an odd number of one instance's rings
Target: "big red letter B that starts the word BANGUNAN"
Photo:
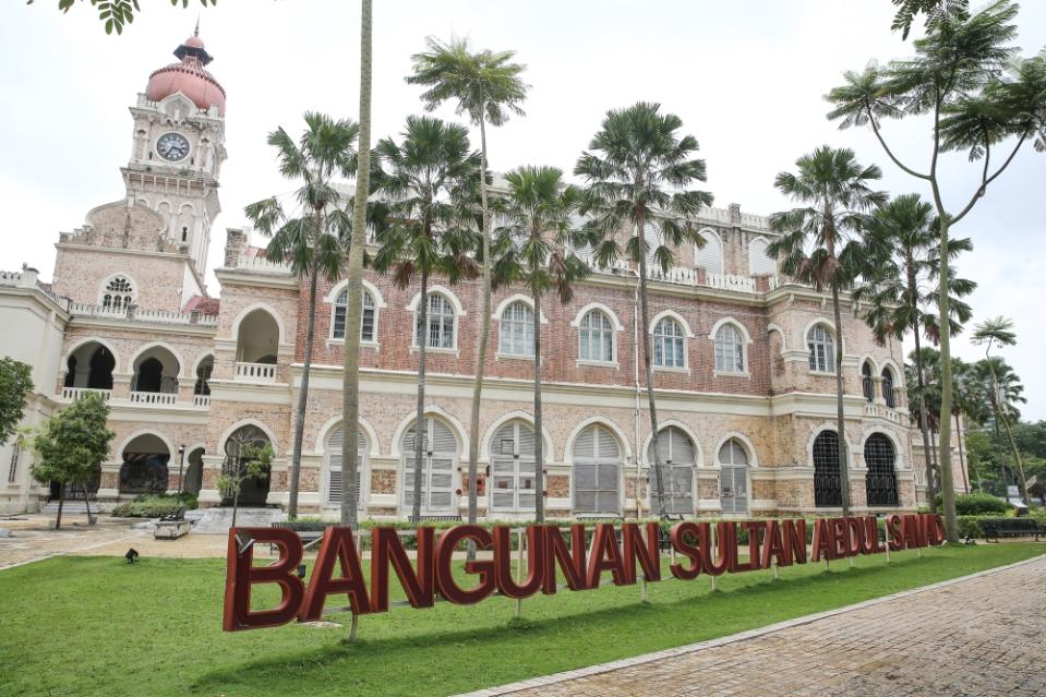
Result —
[[[251, 542], [243, 548], [241, 539]], [[254, 567], [255, 544], [275, 544], [279, 548], [279, 558], [268, 566]], [[298, 616], [305, 589], [296, 575], [303, 551], [297, 532], [282, 528], [230, 528], [228, 550], [223, 629], [278, 627]], [[279, 605], [251, 612], [254, 584], [277, 584], [282, 591]]]

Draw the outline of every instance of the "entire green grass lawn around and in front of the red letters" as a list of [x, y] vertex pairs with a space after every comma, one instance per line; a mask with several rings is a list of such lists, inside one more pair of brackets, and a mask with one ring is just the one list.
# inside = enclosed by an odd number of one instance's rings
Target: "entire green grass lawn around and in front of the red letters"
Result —
[[[0, 572], [0, 695], [447, 695], [681, 646], [1042, 554], [939, 548], [515, 603], [394, 608], [346, 628], [225, 634], [224, 560], [59, 557]], [[394, 589], [398, 588], [395, 580]], [[332, 598], [332, 602], [336, 599]], [[347, 615], [333, 615], [347, 622]]]

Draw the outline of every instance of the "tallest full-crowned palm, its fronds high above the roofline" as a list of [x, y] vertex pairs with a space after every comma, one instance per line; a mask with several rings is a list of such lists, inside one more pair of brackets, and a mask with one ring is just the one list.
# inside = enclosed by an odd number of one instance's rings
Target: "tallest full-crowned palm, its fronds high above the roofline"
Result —
[[[469, 420], [469, 522], [476, 522], [477, 469], [480, 444], [480, 405], [483, 397], [483, 375], [486, 371], [486, 345], [491, 331], [491, 209], [486, 191], [486, 124], [502, 125], [509, 113], [524, 115], [519, 106], [527, 98], [529, 85], [519, 74], [525, 65], [510, 62], [515, 51], [469, 51], [468, 39], [450, 39], [444, 44], [428, 39], [429, 50], [412, 57], [413, 74], [408, 84], [429, 87], [421, 98], [429, 111], [447, 100], [457, 101], [457, 112], [468, 113], [480, 129], [480, 203], [482, 219], [483, 309], [476, 349], [476, 382], [472, 388], [472, 412]], [[540, 440], [540, 436], [539, 436]], [[469, 546], [469, 551], [472, 551]]]

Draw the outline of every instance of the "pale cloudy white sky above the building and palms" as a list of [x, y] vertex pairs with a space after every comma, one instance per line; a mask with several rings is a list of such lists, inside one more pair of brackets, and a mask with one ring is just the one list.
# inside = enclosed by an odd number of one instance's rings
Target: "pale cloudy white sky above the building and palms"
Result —
[[[302, 128], [316, 110], [356, 118], [359, 105], [359, 4], [344, 0], [252, 0], [188, 10], [147, 2], [122, 36], [107, 36], [89, 5], [61, 14], [55, 0], [0, 3], [8, 58], [0, 63], [0, 268], [28, 263], [50, 278], [60, 231], [96, 205], [123, 196], [119, 167], [131, 152], [128, 107], [148, 75], [175, 60], [192, 34], [214, 57], [208, 70], [228, 94], [221, 171], [223, 213], [212, 232], [211, 264], [223, 257], [225, 230], [245, 225], [243, 206], [291, 189], [276, 170], [266, 135]], [[976, 0], [974, 4], [977, 4]], [[637, 100], [680, 116], [708, 164], [705, 189], [716, 205], [740, 203], [767, 215], [790, 203], [773, 188], [797, 157], [828, 144], [853, 148], [883, 171], [891, 194], [925, 188], [901, 172], [864, 130], [839, 131], [823, 95], [844, 70], [911, 53], [890, 32], [888, 0], [587, 0], [572, 2], [374, 3], [374, 136], [397, 135], [420, 113], [420, 88], [407, 85], [410, 56], [425, 37], [468, 37], [474, 48], [515, 50], [531, 89], [526, 116], [489, 132], [495, 170], [526, 164], [570, 172], [610, 108]], [[1018, 16], [1022, 53], [1046, 46], [1046, 2], [1026, 1]], [[452, 108], [438, 116], [454, 119]], [[886, 136], [915, 168], [929, 160], [927, 124], [889, 123]], [[476, 136], [478, 141], [478, 135]], [[979, 170], [964, 156], [943, 163], [946, 205], [962, 206]], [[977, 321], [1014, 321], [1019, 345], [1002, 351], [1025, 385], [1025, 418], [1046, 419], [1046, 155], [1024, 148], [953, 230], [974, 251], [959, 273], [977, 281], [970, 299]], [[208, 287], [218, 292], [213, 272]], [[1037, 319], [1038, 317], [1038, 319]], [[969, 335], [969, 332], [966, 333]], [[983, 356], [969, 336], [953, 352]]]

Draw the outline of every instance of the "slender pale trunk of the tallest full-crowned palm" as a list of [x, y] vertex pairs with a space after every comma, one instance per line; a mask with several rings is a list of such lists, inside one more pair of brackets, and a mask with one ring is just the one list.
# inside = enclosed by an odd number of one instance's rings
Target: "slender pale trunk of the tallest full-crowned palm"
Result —
[[[486, 372], [486, 345], [491, 333], [491, 213], [486, 201], [486, 119], [480, 105], [480, 202], [483, 206], [483, 308], [480, 333], [476, 339], [476, 381], [472, 383], [472, 411], [469, 416], [469, 522], [476, 522], [479, 489], [480, 407], [483, 402], [483, 376]], [[539, 435], [540, 441], [540, 435]], [[538, 492], [540, 502], [541, 492]], [[539, 503], [540, 506], [540, 503]], [[488, 514], [489, 515], [489, 514]], [[469, 542], [469, 561], [476, 545]]]

